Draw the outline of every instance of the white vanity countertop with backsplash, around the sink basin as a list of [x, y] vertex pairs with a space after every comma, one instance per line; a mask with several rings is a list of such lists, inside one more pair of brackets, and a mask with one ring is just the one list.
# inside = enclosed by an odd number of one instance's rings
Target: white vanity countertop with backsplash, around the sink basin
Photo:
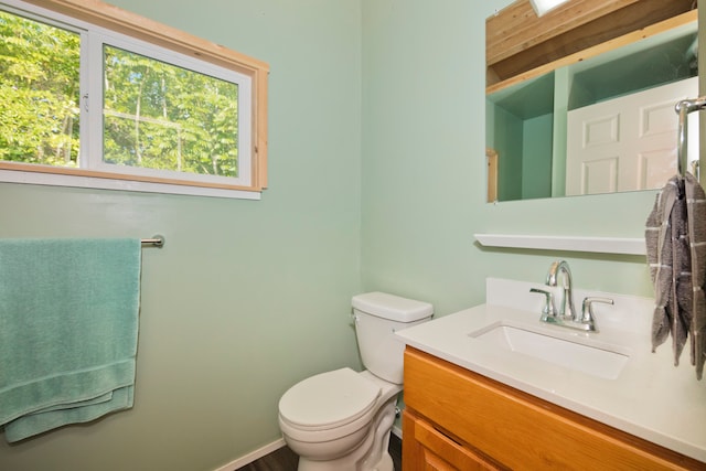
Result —
[[[706, 462], [706, 378], [696, 379], [688, 344], [678, 367], [673, 365], [671, 339], [656, 353], [651, 352], [652, 313], [651, 310], [644, 312], [644, 307], [651, 306], [649, 300], [645, 303], [644, 298], [612, 295], [619, 298], [614, 307], [601, 306], [599, 310], [596, 304], [600, 332], [582, 333], [539, 322], [542, 297], [525, 293], [528, 287], [546, 287], [511, 281], [520, 290], [515, 296], [509, 296], [504, 291], [507, 281], [494, 281], [502, 292], [493, 291], [490, 288], [492, 280], [489, 280], [489, 303], [398, 331], [397, 335], [406, 344], [439, 358]], [[580, 309], [582, 295], [577, 291], [577, 309]], [[527, 309], [501, 306], [523, 303], [527, 299], [532, 300], [532, 307]], [[621, 330], [625, 323], [617, 317], [630, 321], [628, 325], [633, 327], [634, 332]], [[469, 333], [501, 320], [534, 329], [538, 324], [538, 329], [548, 329], [558, 335], [620, 344], [630, 352], [630, 360], [617, 378], [606, 379], [489, 346], [469, 336]]]

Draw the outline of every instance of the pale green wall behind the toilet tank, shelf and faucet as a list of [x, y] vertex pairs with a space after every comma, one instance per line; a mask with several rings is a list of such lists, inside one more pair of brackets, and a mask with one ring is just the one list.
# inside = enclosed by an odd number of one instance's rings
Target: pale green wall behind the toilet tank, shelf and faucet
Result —
[[484, 19], [510, 0], [363, 0], [364, 289], [482, 302], [486, 277], [543, 281], [566, 258], [581, 288], [651, 295], [641, 256], [489, 249], [475, 233], [643, 237], [653, 192], [488, 204]]

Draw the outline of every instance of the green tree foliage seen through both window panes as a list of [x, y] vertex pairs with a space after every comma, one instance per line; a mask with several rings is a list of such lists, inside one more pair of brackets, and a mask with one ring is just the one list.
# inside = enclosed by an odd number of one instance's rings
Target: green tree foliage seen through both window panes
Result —
[[[0, 160], [76, 167], [79, 35], [0, 12]], [[108, 45], [101, 68], [105, 162], [237, 176], [236, 84]]]

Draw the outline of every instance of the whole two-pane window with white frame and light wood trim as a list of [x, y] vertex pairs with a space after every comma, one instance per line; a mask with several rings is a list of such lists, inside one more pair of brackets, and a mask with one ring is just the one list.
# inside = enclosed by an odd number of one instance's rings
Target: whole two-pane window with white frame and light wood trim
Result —
[[0, 181], [258, 199], [266, 64], [100, 2], [0, 3]]

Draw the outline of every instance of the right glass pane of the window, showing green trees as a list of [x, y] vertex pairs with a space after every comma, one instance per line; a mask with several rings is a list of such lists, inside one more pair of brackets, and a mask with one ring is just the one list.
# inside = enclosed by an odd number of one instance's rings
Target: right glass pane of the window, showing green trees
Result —
[[104, 161], [238, 176], [238, 86], [104, 46]]

